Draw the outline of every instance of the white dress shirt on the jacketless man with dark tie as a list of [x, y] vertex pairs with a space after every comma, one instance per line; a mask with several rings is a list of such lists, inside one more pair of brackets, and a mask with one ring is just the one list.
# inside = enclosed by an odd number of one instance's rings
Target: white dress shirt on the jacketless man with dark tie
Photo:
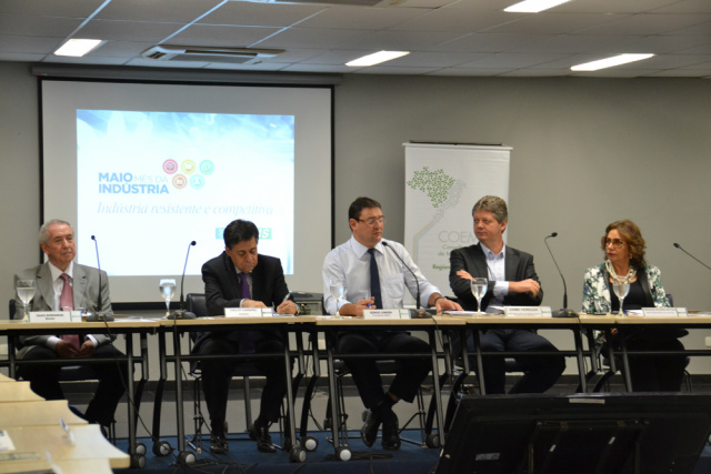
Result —
[[[383, 241], [388, 242], [390, 249], [382, 244]], [[428, 305], [432, 293], [440, 292], [437, 286], [427, 281], [402, 244], [383, 239], [378, 242], [374, 249], [380, 275], [380, 291], [382, 293], [383, 307], [380, 307], [381, 310], [403, 307], [405, 286], [412, 297], [417, 297], [418, 282], [420, 284], [420, 304], [423, 306]], [[414, 272], [417, 281], [400, 259], [394, 255], [393, 251]], [[336, 314], [344, 304], [356, 304], [359, 300], [372, 296], [370, 294], [370, 254], [368, 253], [368, 248], [353, 236], [326, 255], [322, 274], [324, 311], [329, 314]], [[331, 280], [341, 281], [346, 286], [343, 297], [339, 299], [338, 302], [329, 291], [329, 282]]]

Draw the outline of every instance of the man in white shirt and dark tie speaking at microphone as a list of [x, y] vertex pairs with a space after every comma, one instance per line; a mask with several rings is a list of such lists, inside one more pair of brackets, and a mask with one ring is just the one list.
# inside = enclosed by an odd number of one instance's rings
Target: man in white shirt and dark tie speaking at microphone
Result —
[[[413, 297], [420, 296], [424, 306], [437, 312], [461, 310], [461, 306], [443, 297], [437, 286], [427, 281], [402, 244], [382, 239], [385, 218], [380, 203], [370, 198], [358, 198], [351, 203], [349, 225], [352, 236], [333, 249], [323, 261], [323, 288], [326, 312], [362, 316], [367, 309], [401, 309], [405, 288]], [[338, 301], [329, 294], [331, 281], [346, 288], [344, 297]], [[348, 353], [423, 353], [430, 346], [408, 332], [350, 331], [339, 335], [338, 350]], [[398, 450], [398, 417], [392, 406], [400, 400], [412, 402], [424, 377], [430, 373], [429, 359], [401, 359], [399, 370], [385, 392], [373, 359], [344, 357], [363, 404], [369, 410], [361, 438], [372, 446], [382, 424], [382, 446]]]

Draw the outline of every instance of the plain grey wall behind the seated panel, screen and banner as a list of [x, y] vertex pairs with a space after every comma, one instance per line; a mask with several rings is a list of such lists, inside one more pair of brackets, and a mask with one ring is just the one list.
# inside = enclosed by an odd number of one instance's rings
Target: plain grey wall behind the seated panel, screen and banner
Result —
[[[0, 62], [0, 91], [7, 301], [13, 272], [38, 262], [37, 80], [27, 64]], [[534, 255], [544, 304], [561, 305], [562, 283], [543, 238], [559, 233], [549, 242], [579, 309], [604, 226], [629, 218], [677, 305], [711, 310], [711, 272], [672, 246], [711, 262], [711, 81], [347, 75], [336, 87], [337, 244], [349, 238], [348, 205], [359, 195], [382, 203], [387, 236], [402, 240], [408, 140], [513, 148], [509, 244]], [[684, 343], [700, 347], [707, 334]], [[711, 373], [711, 361], [693, 364]]]

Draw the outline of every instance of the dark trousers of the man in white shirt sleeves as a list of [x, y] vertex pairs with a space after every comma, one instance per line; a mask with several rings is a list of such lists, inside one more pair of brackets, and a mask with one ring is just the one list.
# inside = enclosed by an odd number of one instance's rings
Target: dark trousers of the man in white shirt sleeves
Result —
[[[341, 354], [378, 353], [429, 353], [430, 345], [407, 332], [352, 332], [339, 336], [338, 351]], [[360, 399], [367, 409], [377, 406], [385, 396], [380, 371], [374, 359], [348, 359], [343, 361], [351, 372]], [[412, 403], [420, 384], [432, 370], [431, 357], [399, 359], [397, 372], [389, 392], [405, 402]]]

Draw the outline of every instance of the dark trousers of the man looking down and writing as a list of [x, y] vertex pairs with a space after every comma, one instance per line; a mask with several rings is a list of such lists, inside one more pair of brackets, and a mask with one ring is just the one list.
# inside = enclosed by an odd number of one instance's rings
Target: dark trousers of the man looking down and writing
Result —
[[[283, 353], [284, 344], [277, 337], [263, 337], [257, 341], [257, 353]], [[239, 354], [239, 344], [228, 339], [210, 337], [200, 344], [200, 355]], [[227, 401], [232, 374], [239, 364], [253, 364], [267, 377], [262, 390], [260, 421], [279, 420], [281, 402], [287, 394], [287, 367], [283, 357], [254, 359], [250, 361], [236, 359], [212, 359], [200, 361], [202, 367], [202, 393], [210, 413], [210, 427], [213, 433], [222, 433], [227, 417]], [[249, 396], [249, 394], [244, 394]]]

